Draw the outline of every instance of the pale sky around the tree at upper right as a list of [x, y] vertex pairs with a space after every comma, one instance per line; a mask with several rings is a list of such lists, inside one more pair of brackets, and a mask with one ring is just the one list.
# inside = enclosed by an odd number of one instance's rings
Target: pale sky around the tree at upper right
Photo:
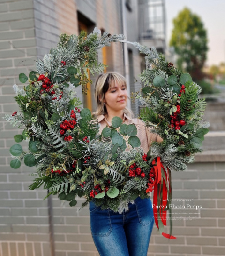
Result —
[[208, 36], [206, 64], [225, 62], [225, 0], [165, 0], [167, 43], [173, 30], [173, 18], [184, 8], [201, 17]]

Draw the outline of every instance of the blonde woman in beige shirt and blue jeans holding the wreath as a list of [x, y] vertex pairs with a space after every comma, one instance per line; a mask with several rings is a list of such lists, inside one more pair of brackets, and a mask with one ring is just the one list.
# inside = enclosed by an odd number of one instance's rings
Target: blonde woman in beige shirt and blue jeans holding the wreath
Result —
[[[145, 153], [153, 141], [161, 141], [145, 128], [141, 120], [132, 118], [132, 112], [126, 107], [128, 92], [122, 75], [115, 72], [101, 74], [96, 80], [95, 97], [100, 132], [105, 126], [111, 126], [113, 117], [118, 116], [124, 123], [137, 126], [136, 136]], [[100, 256], [147, 255], [153, 224], [150, 199], [138, 197], [134, 204], [129, 204], [129, 211], [122, 214], [101, 210], [90, 202], [91, 234]]]

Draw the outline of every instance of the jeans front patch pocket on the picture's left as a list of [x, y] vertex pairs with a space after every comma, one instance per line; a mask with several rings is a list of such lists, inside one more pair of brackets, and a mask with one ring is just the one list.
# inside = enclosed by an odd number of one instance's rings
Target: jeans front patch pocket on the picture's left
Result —
[[112, 230], [109, 210], [90, 207], [90, 230], [92, 236], [108, 236]]

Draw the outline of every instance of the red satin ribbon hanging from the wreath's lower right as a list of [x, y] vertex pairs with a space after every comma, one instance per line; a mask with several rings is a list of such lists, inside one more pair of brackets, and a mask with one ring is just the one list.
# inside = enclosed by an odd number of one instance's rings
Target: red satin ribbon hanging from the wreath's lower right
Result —
[[[168, 197], [168, 192], [169, 193], [172, 192], [172, 188], [171, 188], [170, 181], [169, 181], [169, 169], [167, 168], [167, 171], [168, 171], [168, 174], [167, 174], [166, 170], [160, 160], [160, 157], [157, 157], [157, 161], [154, 159], [152, 161], [152, 164], [153, 164], [153, 168], [156, 173], [155, 181], [152, 184], [154, 186], [154, 193], [153, 193], [154, 219], [155, 219], [156, 226], [158, 227], [158, 211], [159, 211], [160, 219], [161, 219], [163, 225], [166, 226], [167, 197]], [[162, 175], [161, 172], [163, 172], [164, 175]], [[162, 179], [163, 179], [163, 182], [162, 182]], [[167, 184], [167, 186], [166, 186], [166, 184]], [[168, 190], [167, 190], [167, 188], [168, 188]], [[158, 196], [160, 198], [160, 202], [158, 202]], [[159, 209], [158, 209], [158, 205], [160, 206]], [[158, 229], [159, 229], [159, 227], [158, 227]], [[174, 237], [170, 234], [166, 234], [164, 232], [162, 232], [162, 235], [168, 239], [176, 239], [176, 237]]]

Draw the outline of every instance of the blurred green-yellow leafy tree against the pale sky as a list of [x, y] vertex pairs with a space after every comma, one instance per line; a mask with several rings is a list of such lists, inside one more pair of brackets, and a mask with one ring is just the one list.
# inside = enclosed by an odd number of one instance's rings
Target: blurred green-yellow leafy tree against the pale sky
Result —
[[189, 72], [194, 80], [201, 80], [208, 50], [207, 32], [201, 18], [184, 8], [173, 19], [173, 25], [170, 46], [178, 55], [178, 68]]

